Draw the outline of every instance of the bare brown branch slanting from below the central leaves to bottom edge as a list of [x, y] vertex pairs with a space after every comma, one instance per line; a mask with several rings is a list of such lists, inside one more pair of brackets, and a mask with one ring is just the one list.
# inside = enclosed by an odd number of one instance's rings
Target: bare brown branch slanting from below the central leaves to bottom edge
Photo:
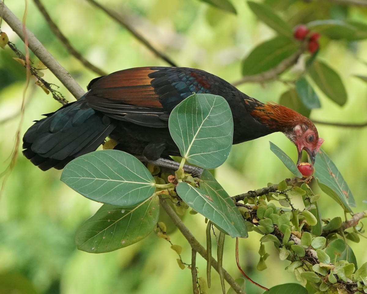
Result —
[[[170, 216], [170, 218], [172, 219], [174, 224], [178, 227], [178, 229], [183, 234], [183, 236], [186, 238], [186, 240], [188, 240], [191, 248], [195, 250], [197, 253], [199, 253], [204, 259], [206, 259], [207, 254], [206, 254], [205, 248], [199, 243], [199, 241], [195, 239], [193, 234], [184, 225], [184, 223], [181, 221], [178, 215], [174, 212], [171, 206], [166, 202], [166, 200], [160, 199], [160, 205], [167, 212], [168, 216]], [[211, 265], [218, 272], [218, 262], [213, 257], [211, 258]], [[233, 288], [233, 290], [235, 290], [236, 293], [238, 294], [244, 293], [241, 290], [241, 287], [236, 283], [233, 277], [229, 275], [229, 273], [225, 269], [223, 269], [223, 275], [224, 275], [224, 279]]]

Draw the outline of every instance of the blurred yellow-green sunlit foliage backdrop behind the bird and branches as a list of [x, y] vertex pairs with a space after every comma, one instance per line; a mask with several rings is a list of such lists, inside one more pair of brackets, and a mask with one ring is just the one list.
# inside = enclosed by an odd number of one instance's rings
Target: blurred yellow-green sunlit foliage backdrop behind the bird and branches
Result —
[[[69, 41], [93, 64], [106, 72], [140, 66], [166, 66], [130, 32], [105, 13], [83, 0], [43, 1], [52, 19]], [[291, 2], [291, 1], [288, 1]], [[300, 6], [317, 10], [328, 2], [302, 3]], [[99, 0], [112, 10], [129, 15], [129, 21], [150, 42], [179, 66], [200, 68], [235, 82], [241, 77], [241, 60], [255, 45], [275, 35], [260, 23], [249, 10], [246, 1], [233, 0], [237, 15], [211, 7], [199, 0]], [[7, 6], [22, 19], [25, 1], [6, 1]], [[70, 56], [50, 31], [32, 1], [28, 1], [26, 25], [77, 82], [86, 89], [97, 77], [76, 58]], [[344, 8], [335, 6], [335, 13]], [[287, 11], [291, 15], [292, 7]], [[340, 10], [340, 11], [339, 11]], [[283, 15], [283, 12], [279, 12]], [[367, 17], [367, 10], [349, 9], [349, 16]], [[290, 19], [297, 25], [297, 18]], [[6, 23], [1, 30], [19, 50], [24, 46]], [[367, 42], [346, 44], [345, 41], [321, 39], [320, 56], [339, 72], [348, 92], [348, 102], [339, 107], [318, 89], [322, 107], [313, 110], [310, 118], [318, 121], [357, 123], [367, 120], [367, 83], [353, 75], [367, 75]], [[0, 160], [1, 171], [10, 163], [17, 128], [21, 137], [32, 121], [41, 114], [52, 112], [61, 105], [46, 95], [31, 80], [26, 90], [26, 107], [21, 121], [20, 107], [25, 91], [25, 69], [12, 59], [9, 49], [0, 50]], [[37, 62], [34, 55], [31, 58]], [[44, 79], [60, 86], [68, 99], [74, 98], [48, 70]], [[239, 89], [261, 101], [279, 100], [289, 86], [281, 82], [246, 83]], [[337, 165], [356, 199], [355, 212], [367, 209], [367, 128], [340, 128], [317, 125], [325, 139], [324, 150]], [[297, 159], [296, 148], [281, 133], [233, 146], [229, 159], [219, 167], [216, 178], [231, 196], [278, 183], [292, 175], [270, 151], [272, 141]], [[21, 146], [18, 146], [19, 152]], [[120, 294], [120, 293], [192, 293], [191, 273], [177, 265], [177, 254], [170, 244], [150, 234], [145, 240], [121, 250], [105, 254], [78, 251], [75, 233], [81, 223], [100, 206], [77, 194], [60, 182], [61, 171], [42, 172], [21, 154], [0, 198], [0, 293], [1, 289], [17, 289], [10, 293], [37, 294]], [[315, 190], [317, 188], [315, 187]], [[319, 200], [322, 218], [341, 216], [343, 210], [330, 197], [321, 193]], [[295, 205], [303, 208], [301, 200]], [[205, 244], [204, 218], [185, 216], [185, 224], [201, 244]], [[182, 259], [190, 263], [191, 250], [183, 236], [170, 234], [174, 244], [183, 247]], [[266, 287], [295, 282], [293, 273], [284, 268], [289, 261], [280, 261], [272, 244], [266, 243], [270, 257], [268, 268], [258, 272], [260, 235], [251, 232], [240, 240], [240, 263], [245, 272]], [[241, 277], [235, 261], [235, 240], [226, 238], [224, 268], [236, 279]], [[359, 264], [367, 261], [366, 241], [352, 243]], [[215, 240], [213, 240], [215, 247]], [[215, 252], [215, 251], [214, 251]], [[199, 276], [206, 276], [206, 261], [197, 257]], [[229, 288], [227, 284], [227, 288]], [[263, 290], [246, 282], [247, 293]], [[212, 271], [210, 293], [221, 293], [218, 274]]]

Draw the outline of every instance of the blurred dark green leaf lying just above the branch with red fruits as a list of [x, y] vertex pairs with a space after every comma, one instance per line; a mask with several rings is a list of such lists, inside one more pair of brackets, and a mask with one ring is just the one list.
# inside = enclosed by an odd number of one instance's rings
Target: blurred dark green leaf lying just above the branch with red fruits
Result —
[[251, 51], [242, 64], [244, 76], [256, 75], [275, 68], [298, 50], [297, 44], [284, 36], [266, 41]]

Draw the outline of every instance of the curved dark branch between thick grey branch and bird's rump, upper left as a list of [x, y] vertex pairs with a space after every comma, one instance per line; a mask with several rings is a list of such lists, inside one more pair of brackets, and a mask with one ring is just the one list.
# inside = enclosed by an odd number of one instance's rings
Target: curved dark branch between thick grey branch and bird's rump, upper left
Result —
[[54, 21], [52, 21], [50, 15], [46, 11], [46, 8], [43, 6], [40, 0], [33, 0], [34, 4], [38, 7], [39, 11], [46, 19], [48, 26], [50, 27], [51, 31], [54, 35], [60, 40], [60, 42], [64, 45], [65, 49], [73, 55], [77, 60], [79, 60], [86, 68], [90, 69], [97, 73], [97, 75], [104, 76], [107, 73], [104, 72], [102, 69], [96, 67], [95, 65], [91, 64], [86, 58], [83, 57], [74, 47], [70, 44], [69, 40], [63, 35], [63, 33], [59, 30], [57, 25]]

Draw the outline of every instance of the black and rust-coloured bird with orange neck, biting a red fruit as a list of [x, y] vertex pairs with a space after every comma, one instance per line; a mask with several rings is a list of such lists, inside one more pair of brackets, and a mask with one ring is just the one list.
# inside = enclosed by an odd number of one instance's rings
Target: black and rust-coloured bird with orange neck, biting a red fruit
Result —
[[211, 73], [184, 67], [124, 69], [93, 79], [79, 100], [46, 114], [23, 137], [23, 154], [46, 171], [94, 151], [105, 138], [117, 149], [158, 159], [179, 155], [168, 131], [172, 109], [195, 93], [224, 97], [232, 110], [233, 144], [283, 132], [306, 150], [312, 164], [323, 139], [305, 116], [282, 105], [261, 103]]

